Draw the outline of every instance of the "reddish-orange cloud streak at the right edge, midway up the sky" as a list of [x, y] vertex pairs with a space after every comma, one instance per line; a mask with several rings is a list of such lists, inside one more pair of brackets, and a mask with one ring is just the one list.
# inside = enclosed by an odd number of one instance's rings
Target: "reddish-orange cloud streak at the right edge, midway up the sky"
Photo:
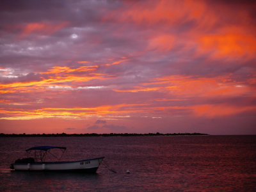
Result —
[[[252, 80], [250, 80], [252, 81]], [[255, 89], [250, 82], [239, 83], [230, 77], [190, 77], [190, 76], [168, 76], [153, 79], [147, 85], [155, 85], [156, 90], [168, 90], [175, 97], [218, 97], [254, 95]], [[136, 92], [136, 88], [134, 88]]]

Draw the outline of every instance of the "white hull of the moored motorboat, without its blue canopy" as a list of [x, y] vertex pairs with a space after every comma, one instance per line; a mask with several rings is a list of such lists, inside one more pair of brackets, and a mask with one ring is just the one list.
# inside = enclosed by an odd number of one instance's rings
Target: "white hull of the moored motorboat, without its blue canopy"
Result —
[[104, 157], [81, 161], [60, 161], [40, 163], [13, 163], [15, 171], [84, 172], [95, 173]]

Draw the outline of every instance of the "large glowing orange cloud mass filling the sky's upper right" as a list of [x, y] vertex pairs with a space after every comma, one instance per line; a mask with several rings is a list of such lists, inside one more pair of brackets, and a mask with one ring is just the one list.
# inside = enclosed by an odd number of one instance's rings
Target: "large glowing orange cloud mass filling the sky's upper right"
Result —
[[[243, 4], [246, 7], [246, 5]], [[147, 33], [148, 50], [167, 52], [177, 44], [179, 49], [211, 54], [212, 58], [254, 58], [256, 54], [255, 27], [243, 9], [232, 9], [226, 3], [207, 1], [127, 1], [127, 6], [106, 15], [142, 28], [154, 28]], [[193, 27], [189, 27], [192, 22]], [[177, 33], [180, 26], [188, 29]], [[172, 29], [173, 30], [170, 30]], [[172, 31], [172, 32], [170, 32]]]

